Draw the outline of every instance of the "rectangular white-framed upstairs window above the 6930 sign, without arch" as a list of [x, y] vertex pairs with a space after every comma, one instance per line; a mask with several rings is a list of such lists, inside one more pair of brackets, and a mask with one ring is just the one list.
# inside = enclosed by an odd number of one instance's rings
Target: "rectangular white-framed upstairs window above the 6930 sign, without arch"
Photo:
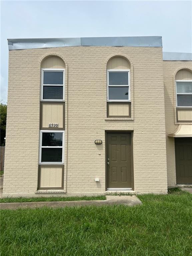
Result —
[[42, 68], [41, 69], [41, 100], [64, 101], [64, 69]]

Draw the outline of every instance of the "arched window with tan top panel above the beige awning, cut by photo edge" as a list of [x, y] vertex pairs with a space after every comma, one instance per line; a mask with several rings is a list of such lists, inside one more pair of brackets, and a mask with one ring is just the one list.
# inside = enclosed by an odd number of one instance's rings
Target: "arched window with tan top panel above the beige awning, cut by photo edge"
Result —
[[192, 107], [192, 71], [181, 69], [175, 75], [177, 107]]

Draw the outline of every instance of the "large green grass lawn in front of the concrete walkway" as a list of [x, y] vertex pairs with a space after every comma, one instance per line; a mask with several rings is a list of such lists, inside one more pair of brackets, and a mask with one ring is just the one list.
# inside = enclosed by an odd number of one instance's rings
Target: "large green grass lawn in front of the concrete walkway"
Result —
[[1, 255], [192, 255], [192, 194], [138, 197], [135, 207], [1, 210]]

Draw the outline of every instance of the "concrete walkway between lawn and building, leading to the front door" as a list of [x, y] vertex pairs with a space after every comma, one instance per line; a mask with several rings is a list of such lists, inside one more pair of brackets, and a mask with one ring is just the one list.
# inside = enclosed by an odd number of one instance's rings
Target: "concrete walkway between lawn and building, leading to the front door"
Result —
[[60, 202], [27, 202], [27, 203], [0, 203], [0, 209], [16, 210], [19, 208], [40, 208], [43, 206], [51, 208], [63, 208], [70, 206], [86, 206], [86, 205], [127, 205], [134, 206], [142, 204], [137, 196], [106, 196], [106, 200], [92, 200], [92, 201], [60, 201]]

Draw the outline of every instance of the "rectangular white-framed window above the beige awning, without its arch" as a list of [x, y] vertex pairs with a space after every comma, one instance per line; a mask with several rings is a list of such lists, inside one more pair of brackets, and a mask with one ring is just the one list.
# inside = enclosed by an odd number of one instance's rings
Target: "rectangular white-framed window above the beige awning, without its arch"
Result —
[[192, 107], [192, 81], [176, 80], [177, 107]]

